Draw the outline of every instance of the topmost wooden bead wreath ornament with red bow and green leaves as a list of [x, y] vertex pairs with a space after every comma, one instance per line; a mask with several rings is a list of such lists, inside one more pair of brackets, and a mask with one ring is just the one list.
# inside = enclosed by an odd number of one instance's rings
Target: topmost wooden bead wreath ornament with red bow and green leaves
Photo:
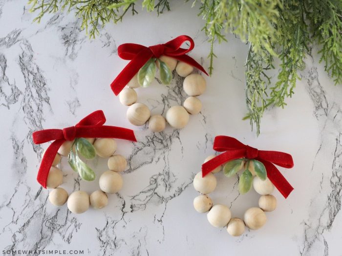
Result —
[[[189, 49], [180, 48], [186, 41], [190, 42]], [[195, 67], [208, 74], [200, 64], [186, 55], [193, 47], [194, 42], [188, 36], [179, 36], [165, 44], [150, 47], [131, 43], [118, 47], [119, 57], [131, 61], [110, 86], [115, 95], [119, 95], [120, 102], [128, 106], [127, 119], [131, 124], [142, 126], [148, 122], [152, 132], [162, 132], [166, 123], [175, 129], [182, 129], [188, 124], [190, 115], [201, 111], [202, 103], [196, 96], [204, 93], [206, 81], [201, 75], [192, 74], [192, 71]], [[183, 88], [189, 95], [183, 106], [176, 105], [167, 110], [165, 118], [161, 115], [151, 115], [147, 105], [137, 102], [137, 93], [134, 90], [140, 86], [149, 86], [155, 78], [157, 68], [164, 84], [171, 82], [173, 70], [179, 76], [185, 77]], [[125, 86], [127, 87], [124, 88]]]

